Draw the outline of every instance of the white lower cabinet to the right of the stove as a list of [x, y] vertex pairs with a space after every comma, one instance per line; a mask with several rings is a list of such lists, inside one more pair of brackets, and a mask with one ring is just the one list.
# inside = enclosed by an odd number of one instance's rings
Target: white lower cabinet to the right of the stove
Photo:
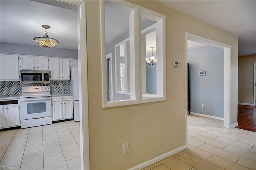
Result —
[[73, 96], [52, 97], [52, 121], [73, 119]]

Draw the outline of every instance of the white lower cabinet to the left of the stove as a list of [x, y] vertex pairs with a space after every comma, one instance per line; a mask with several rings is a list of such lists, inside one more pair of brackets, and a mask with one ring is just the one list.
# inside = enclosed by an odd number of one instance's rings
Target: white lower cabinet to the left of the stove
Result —
[[0, 128], [20, 126], [19, 105], [0, 105]]

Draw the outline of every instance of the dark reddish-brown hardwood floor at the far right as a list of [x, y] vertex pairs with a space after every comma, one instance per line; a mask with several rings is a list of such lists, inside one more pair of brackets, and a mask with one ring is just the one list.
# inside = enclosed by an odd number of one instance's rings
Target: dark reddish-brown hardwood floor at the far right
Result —
[[256, 132], [256, 106], [238, 105], [238, 126]]

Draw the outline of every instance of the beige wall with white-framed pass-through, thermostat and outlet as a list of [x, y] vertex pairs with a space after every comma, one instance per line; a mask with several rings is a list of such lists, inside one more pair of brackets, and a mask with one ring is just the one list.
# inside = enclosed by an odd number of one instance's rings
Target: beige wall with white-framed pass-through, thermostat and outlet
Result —
[[[238, 74], [236, 36], [153, 1], [131, 2], [166, 15], [166, 101], [102, 109], [100, 3], [86, 1], [91, 169], [128, 169], [185, 145], [185, 32], [231, 45], [232, 79]], [[234, 84], [232, 114], [235, 123]], [[130, 152], [123, 154], [126, 142]]]

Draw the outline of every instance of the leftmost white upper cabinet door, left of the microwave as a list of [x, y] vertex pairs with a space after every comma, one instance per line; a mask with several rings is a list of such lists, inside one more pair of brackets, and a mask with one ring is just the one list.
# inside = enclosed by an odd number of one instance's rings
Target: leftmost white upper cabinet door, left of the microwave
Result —
[[0, 80], [19, 80], [18, 55], [0, 54]]

